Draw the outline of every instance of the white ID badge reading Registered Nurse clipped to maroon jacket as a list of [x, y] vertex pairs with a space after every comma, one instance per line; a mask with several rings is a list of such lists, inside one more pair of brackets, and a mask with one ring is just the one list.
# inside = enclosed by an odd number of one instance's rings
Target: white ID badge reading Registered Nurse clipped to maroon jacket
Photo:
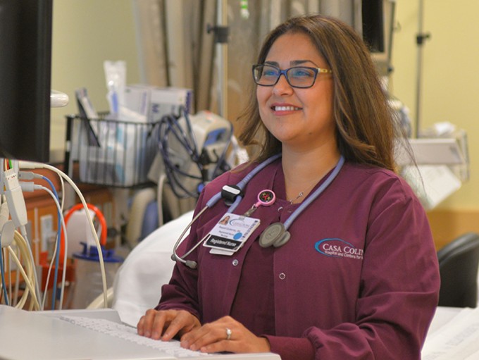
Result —
[[259, 223], [259, 219], [256, 218], [225, 213], [206, 237], [203, 245], [210, 247], [212, 254], [235, 254], [248, 240]]

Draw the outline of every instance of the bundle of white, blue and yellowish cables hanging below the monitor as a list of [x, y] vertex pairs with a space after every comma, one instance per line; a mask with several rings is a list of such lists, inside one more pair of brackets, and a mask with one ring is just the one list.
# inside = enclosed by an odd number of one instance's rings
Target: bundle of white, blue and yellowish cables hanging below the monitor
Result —
[[[73, 190], [77, 193], [80, 201], [82, 202], [85, 209], [87, 209], [87, 203], [85, 198], [83, 197], [82, 193], [75, 185], [75, 183], [68, 178], [68, 176], [63, 173], [61, 170], [58, 170], [54, 166], [49, 166], [47, 164], [42, 163], [31, 163], [27, 161], [20, 161], [20, 163], [15, 163], [13, 166], [12, 161], [4, 160], [4, 166], [0, 168], [0, 187], [1, 190], [4, 190], [4, 195], [2, 196], [1, 206], [0, 206], [0, 248], [2, 249], [0, 254], [0, 271], [1, 271], [1, 287], [0, 293], [1, 298], [4, 299], [5, 304], [14, 305], [17, 307], [23, 307], [26, 304], [27, 297], [30, 295], [32, 298], [32, 302], [30, 302], [30, 309], [44, 309], [44, 302], [45, 297], [42, 297], [42, 293], [39, 290], [39, 282], [37, 279], [37, 272], [35, 271], [35, 259], [32, 254], [32, 249], [30, 247], [29, 242], [27, 241], [27, 231], [25, 225], [27, 225], [27, 213], [25, 209], [25, 200], [23, 199], [22, 191], [32, 192], [35, 190], [44, 190], [48, 192], [54, 202], [56, 204], [57, 213], [58, 213], [58, 232], [55, 242], [54, 254], [51, 259], [51, 263], [48, 269], [48, 275], [46, 277], [46, 285], [44, 289], [44, 293], [46, 293], [47, 287], [49, 285], [49, 278], [51, 275], [51, 271], [54, 271], [54, 287], [52, 292], [52, 300], [51, 300], [51, 307], [52, 310], [55, 309], [56, 304], [56, 290], [57, 290], [57, 283], [58, 283], [58, 268], [60, 268], [60, 255], [63, 252], [63, 273], [61, 278], [61, 288], [60, 288], [60, 302], [59, 302], [59, 309], [61, 309], [63, 304], [63, 294], [65, 290], [65, 283], [66, 283], [66, 261], [67, 261], [67, 246], [68, 240], [66, 237], [66, 225], [65, 220], [63, 218], [63, 199], [62, 204], [60, 204], [60, 199], [58, 194], [56, 193], [56, 189], [48, 178], [31, 172], [25, 171], [18, 171], [18, 168], [46, 168], [51, 171], [54, 171], [60, 179], [61, 179], [61, 188], [62, 193], [64, 193], [63, 189], [63, 180], [66, 180], [72, 187]], [[22, 182], [18, 181], [18, 178], [23, 180]], [[32, 181], [25, 181], [25, 180], [32, 180], [34, 178], [41, 178], [49, 183], [51, 190], [48, 188], [37, 185]], [[106, 275], [105, 275], [105, 268], [104, 268], [104, 261], [103, 256], [101, 254], [101, 244], [98, 239], [97, 231], [94, 228], [94, 224], [92, 221], [92, 217], [90, 216], [89, 211], [87, 213], [87, 220], [89, 222], [90, 228], [92, 230], [92, 235], [94, 237], [95, 243], [97, 244], [97, 249], [99, 250], [99, 265], [101, 269], [101, 279], [103, 282], [103, 292], [104, 292], [104, 306], [108, 304], [108, 295], [106, 289]], [[11, 216], [12, 220], [8, 220], [9, 216]], [[9, 223], [10, 222], [10, 223]], [[7, 225], [8, 223], [8, 225]], [[61, 226], [60, 226], [61, 224]], [[14, 230], [15, 228], [19, 228], [20, 232]], [[63, 229], [64, 241], [61, 243], [61, 229]], [[11, 234], [11, 235], [9, 235]], [[13, 237], [13, 239], [10, 239]], [[7, 243], [8, 241], [8, 243]], [[63, 249], [62, 246], [63, 245]], [[8, 252], [8, 259], [10, 261], [14, 261], [16, 268], [18, 268], [18, 272], [21, 273], [23, 276], [23, 280], [27, 288], [23, 293], [22, 297], [17, 303], [18, 299], [18, 286], [20, 284], [20, 275], [17, 272], [17, 278], [15, 281], [15, 291], [11, 289], [11, 284], [13, 283], [10, 280], [10, 286], [6, 286], [6, 263], [4, 259], [4, 252]], [[54, 266], [55, 263], [55, 266]], [[11, 266], [8, 266], [8, 271], [10, 272]], [[11, 275], [10, 275], [11, 276]], [[10, 294], [10, 296], [8, 296]], [[12, 304], [15, 303], [15, 304]]]

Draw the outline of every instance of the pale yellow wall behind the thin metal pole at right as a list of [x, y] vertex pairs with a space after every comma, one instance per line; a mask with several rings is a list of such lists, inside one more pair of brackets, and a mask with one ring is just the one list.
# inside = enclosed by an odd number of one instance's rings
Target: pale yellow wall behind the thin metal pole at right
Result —
[[[416, 34], [419, 1], [399, 0], [394, 34], [393, 94], [416, 114]], [[440, 246], [466, 231], [479, 232], [479, 1], [423, 1], [421, 128], [449, 121], [468, 134], [471, 180], [429, 212]]]

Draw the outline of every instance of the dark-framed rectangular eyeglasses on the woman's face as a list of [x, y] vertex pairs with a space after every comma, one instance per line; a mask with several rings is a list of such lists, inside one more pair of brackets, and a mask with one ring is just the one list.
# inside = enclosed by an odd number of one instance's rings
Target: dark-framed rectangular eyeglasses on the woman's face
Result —
[[286, 81], [291, 87], [307, 89], [312, 87], [318, 73], [332, 73], [330, 69], [309, 68], [308, 66], [294, 66], [293, 68], [281, 70], [277, 66], [258, 64], [253, 66], [253, 79], [257, 85], [274, 86], [285, 75]]

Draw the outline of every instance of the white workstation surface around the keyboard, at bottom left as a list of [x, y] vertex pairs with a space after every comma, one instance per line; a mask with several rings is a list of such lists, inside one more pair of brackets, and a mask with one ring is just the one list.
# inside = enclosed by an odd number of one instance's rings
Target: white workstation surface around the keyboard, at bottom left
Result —
[[[94, 312], [87, 311], [88, 316]], [[99, 312], [98, 314], [101, 314]], [[73, 315], [73, 314], [72, 314]], [[111, 314], [108, 313], [108, 319]], [[117, 315], [118, 316], [118, 315]], [[0, 305], [0, 359], [35, 360], [175, 360], [156, 349], [127, 342], [56, 318], [54, 314], [14, 309]], [[193, 358], [213, 360], [280, 360], [275, 354], [198, 353]]]

